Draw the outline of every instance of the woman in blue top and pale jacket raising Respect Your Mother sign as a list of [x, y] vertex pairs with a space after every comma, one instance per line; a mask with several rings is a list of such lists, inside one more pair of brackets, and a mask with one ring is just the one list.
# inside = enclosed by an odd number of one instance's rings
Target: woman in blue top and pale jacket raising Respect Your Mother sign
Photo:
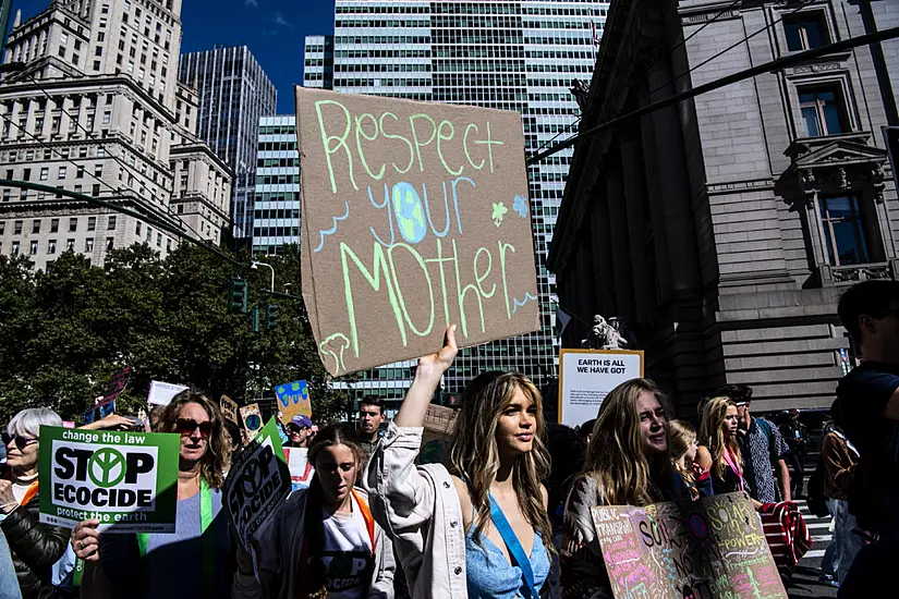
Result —
[[549, 473], [543, 400], [518, 372], [484, 372], [465, 389], [449, 468], [415, 466], [434, 391], [458, 352], [418, 360], [399, 414], [376, 447], [365, 487], [392, 530], [413, 598], [537, 599], [549, 574], [552, 527], [540, 480]]

